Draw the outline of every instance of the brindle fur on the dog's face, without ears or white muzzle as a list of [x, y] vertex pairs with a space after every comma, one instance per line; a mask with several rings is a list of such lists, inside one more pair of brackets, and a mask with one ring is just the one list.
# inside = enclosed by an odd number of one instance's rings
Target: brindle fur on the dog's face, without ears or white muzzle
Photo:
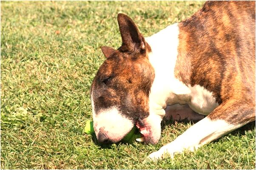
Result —
[[[148, 96], [154, 70], [147, 56], [134, 59], [134, 55], [118, 51], [100, 67], [92, 85], [96, 113], [115, 106], [131, 119], [149, 115]], [[104, 83], [105, 79], [109, 80]]]

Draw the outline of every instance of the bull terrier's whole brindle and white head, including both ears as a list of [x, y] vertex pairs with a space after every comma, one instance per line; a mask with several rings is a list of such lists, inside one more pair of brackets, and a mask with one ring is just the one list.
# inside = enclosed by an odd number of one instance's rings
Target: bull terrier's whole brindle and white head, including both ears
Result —
[[106, 60], [91, 85], [94, 130], [100, 143], [117, 143], [137, 125], [145, 143], [154, 144], [161, 129], [159, 132], [160, 125], [153, 127], [154, 120], [149, 116], [154, 81], [154, 69], [148, 60], [151, 47], [131, 18], [118, 14], [117, 20], [122, 46], [117, 50], [102, 47]]

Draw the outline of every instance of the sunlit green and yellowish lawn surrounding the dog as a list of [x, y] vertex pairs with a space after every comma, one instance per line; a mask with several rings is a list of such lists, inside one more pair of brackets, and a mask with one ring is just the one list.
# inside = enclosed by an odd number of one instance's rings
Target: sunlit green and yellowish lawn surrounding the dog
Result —
[[117, 14], [144, 36], [196, 12], [199, 1], [1, 1], [1, 169], [255, 169], [255, 122], [174, 159], [143, 162], [190, 123], [165, 123], [157, 145], [100, 147], [85, 135], [90, 85], [121, 45]]

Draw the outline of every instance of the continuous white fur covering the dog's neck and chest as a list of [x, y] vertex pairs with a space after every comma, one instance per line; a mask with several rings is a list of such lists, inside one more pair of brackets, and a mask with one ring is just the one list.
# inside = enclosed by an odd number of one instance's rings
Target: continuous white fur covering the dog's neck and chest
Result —
[[208, 115], [219, 106], [213, 93], [199, 85], [187, 86], [174, 76], [179, 45], [177, 24], [170, 25], [145, 39], [151, 46], [152, 52], [148, 57], [155, 71], [155, 79], [149, 95], [151, 114], [164, 117], [164, 109], [167, 105], [177, 103], [187, 103], [192, 110], [202, 115]]

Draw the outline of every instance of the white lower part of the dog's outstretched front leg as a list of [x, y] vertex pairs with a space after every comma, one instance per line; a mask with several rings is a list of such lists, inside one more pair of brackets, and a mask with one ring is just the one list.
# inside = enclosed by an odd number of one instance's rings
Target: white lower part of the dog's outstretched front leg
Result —
[[160, 159], [165, 154], [173, 157], [174, 153], [180, 153], [185, 149], [194, 151], [200, 146], [218, 139], [240, 126], [242, 125], [229, 124], [223, 120], [211, 121], [209, 118], [204, 118], [191, 126], [173, 142], [164, 145], [159, 151], [150, 154], [149, 158], [153, 160]]

